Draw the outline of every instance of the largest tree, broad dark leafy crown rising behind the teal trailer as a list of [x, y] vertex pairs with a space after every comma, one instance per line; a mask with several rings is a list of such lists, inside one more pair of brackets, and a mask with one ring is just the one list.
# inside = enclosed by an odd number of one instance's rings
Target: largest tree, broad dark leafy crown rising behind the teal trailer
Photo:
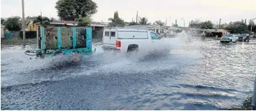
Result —
[[87, 17], [97, 12], [97, 4], [92, 0], [58, 0], [55, 8], [63, 20], [74, 21], [76, 18]]

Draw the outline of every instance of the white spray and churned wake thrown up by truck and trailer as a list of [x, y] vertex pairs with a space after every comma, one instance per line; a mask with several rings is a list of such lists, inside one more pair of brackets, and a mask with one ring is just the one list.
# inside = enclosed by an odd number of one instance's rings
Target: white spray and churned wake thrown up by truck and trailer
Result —
[[[175, 38], [162, 39], [164, 45], [157, 47], [157, 50], [167, 48], [172, 52], [175, 49], [181, 49], [187, 37], [188, 35], [182, 32], [177, 34]], [[169, 69], [172, 65], [175, 65], [165, 60], [166, 57], [171, 56], [170, 52], [165, 54], [159, 54], [158, 52], [114, 54], [113, 52], [103, 52], [100, 45], [93, 45], [93, 49], [95, 48], [95, 53], [82, 57], [82, 61], [77, 64], [72, 64], [68, 56], [29, 59], [24, 54], [27, 49], [33, 49], [29, 46], [25, 49], [22, 49], [22, 47], [3, 49], [1, 51], [1, 85], [56, 81], [68, 77], [99, 73], [151, 73], [159, 69]]]

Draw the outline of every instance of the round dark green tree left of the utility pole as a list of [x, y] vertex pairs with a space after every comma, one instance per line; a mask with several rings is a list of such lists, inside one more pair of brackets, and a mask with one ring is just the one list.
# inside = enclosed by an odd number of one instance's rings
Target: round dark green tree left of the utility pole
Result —
[[9, 31], [20, 31], [22, 29], [22, 21], [19, 16], [9, 17], [4, 25]]

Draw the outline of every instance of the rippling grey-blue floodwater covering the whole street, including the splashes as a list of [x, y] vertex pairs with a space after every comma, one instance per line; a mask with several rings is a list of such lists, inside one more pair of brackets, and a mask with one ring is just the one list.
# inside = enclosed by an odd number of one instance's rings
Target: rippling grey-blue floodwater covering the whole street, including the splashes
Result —
[[2, 49], [1, 110], [227, 110], [252, 94], [256, 44], [183, 33], [166, 42], [168, 55], [97, 47], [79, 64], [59, 65], [29, 59], [19, 46]]

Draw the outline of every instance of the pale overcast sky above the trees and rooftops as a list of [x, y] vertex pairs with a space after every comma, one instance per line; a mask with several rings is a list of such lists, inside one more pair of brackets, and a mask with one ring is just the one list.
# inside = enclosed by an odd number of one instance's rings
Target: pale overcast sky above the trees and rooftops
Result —
[[[25, 16], [54, 17], [58, 19], [54, 8], [57, 0], [24, 0]], [[222, 23], [242, 21], [256, 18], [256, 0], [93, 0], [98, 5], [98, 11], [93, 14], [93, 21], [107, 22], [114, 11], [125, 21], [136, 20], [138, 16], [147, 17], [153, 23], [156, 20], [167, 25], [189, 25], [189, 21], [199, 19], [210, 20], [214, 24], [222, 19]], [[1, 17], [22, 16], [22, 0], [1, 0]]]

